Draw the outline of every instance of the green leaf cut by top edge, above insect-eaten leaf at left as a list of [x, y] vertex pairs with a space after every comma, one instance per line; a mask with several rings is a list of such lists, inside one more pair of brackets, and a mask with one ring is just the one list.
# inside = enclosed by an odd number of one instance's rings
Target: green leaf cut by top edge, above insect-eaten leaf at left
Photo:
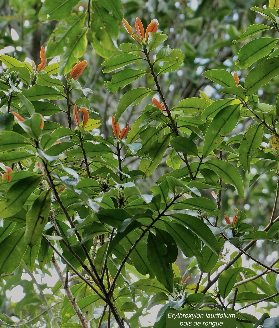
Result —
[[39, 20], [61, 20], [70, 16], [72, 8], [79, 0], [46, 0], [39, 11]]

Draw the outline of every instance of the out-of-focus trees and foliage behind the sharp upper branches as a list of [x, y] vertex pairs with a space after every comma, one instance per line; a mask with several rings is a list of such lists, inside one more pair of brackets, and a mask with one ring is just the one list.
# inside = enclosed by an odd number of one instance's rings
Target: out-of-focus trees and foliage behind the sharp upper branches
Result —
[[[33, 60], [36, 65], [40, 62], [41, 45], [47, 46], [52, 32], [60, 23], [55, 20], [39, 21], [39, 10], [42, 4], [40, 0], [0, 0], [0, 54], [6, 53], [18, 60], [25, 60], [27, 57]], [[219, 93], [218, 86], [201, 76], [202, 72], [209, 69], [237, 71], [240, 76], [240, 83], [243, 84], [244, 78], [250, 69], [239, 71], [234, 63], [237, 60], [239, 49], [247, 41], [233, 44], [232, 40], [236, 40], [239, 34], [243, 33], [251, 24], [271, 24], [270, 21], [264, 20], [262, 16], [249, 10], [250, 7], [263, 7], [266, 4], [259, 0], [122, 0], [122, 4], [123, 15], [131, 26], [134, 26], [136, 17], [140, 17], [144, 27], [149, 24], [151, 19], [157, 19], [159, 21], [158, 31], [163, 31], [164, 34], [169, 36], [166, 44], [169, 44], [170, 48], [180, 48], [184, 54], [184, 63], [178, 71], [159, 76], [159, 83], [169, 107], [174, 106], [181, 99], [199, 97], [199, 90], [204, 91], [212, 100], [221, 98], [222, 95]], [[88, 1], [80, 1], [74, 7], [73, 12], [86, 12], [87, 9]], [[264, 31], [258, 34], [257, 37], [276, 37], [276, 35], [270, 35], [272, 33], [270, 31]], [[153, 88], [154, 82], [147, 74], [144, 78], [136, 80], [118, 92], [108, 92], [104, 81], [109, 81], [112, 73], [105, 74], [102, 72], [104, 58], [99, 56], [92, 48], [93, 37], [92, 31], [88, 30], [88, 46], [82, 57], [82, 59], [88, 61], [88, 65], [79, 82], [83, 88], [92, 89], [92, 94], [89, 93], [87, 97], [90, 99], [91, 106], [96, 113], [91, 113], [91, 117], [98, 118], [103, 122], [101, 133], [105, 138], [108, 138], [112, 135], [112, 129], [110, 123], [105, 124], [105, 122], [110, 122], [110, 116], [115, 114], [121, 96], [130, 89], [138, 87]], [[117, 44], [131, 42], [131, 38], [122, 24], [120, 25], [118, 40], [115, 40], [115, 42]], [[142, 65], [142, 62], [140, 61], [138, 66]], [[137, 64], [133, 65], [136, 66]], [[146, 69], [144, 66], [135, 68]], [[5, 70], [5, 67], [0, 67], [0, 74], [3, 70]], [[63, 77], [61, 76], [61, 78]], [[271, 84], [260, 90], [260, 102], [275, 105], [278, 92], [279, 77], [276, 77]], [[74, 96], [75, 93], [73, 92]], [[80, 92], [76, 91], [76, 97], [80, 96]], [[131, 107], [120, 120], [120, 126], [125, 126], [127, 121], [132, 126], [141, 110], [143, 110], [142, 106], [144, 104], [151, 104], [151, 97], [147, 97], [139, 105]], [[66, 120], [65, 115], [55, 114], [51, 119], [66, 125], [66, 121], [63, 121]], [[246, 124], [247, 126], [244, 126], [240, 123], [237, 126], [238, 133], [243, 133], [250, 125], [249, 122], [246, 122]], [[268, 141], [266, 140], [266, 142]], [[165, 156], [168, 156], [168, 152]], [[163, 162], [165, 163], [165, 161]], [[237, 161], [232, 161], [232, 163], [236, 165]], [[231, 191], [226, 194], [228, 199], [227, 201], [224, 199], [223, 208], [221, 209], [222, 213], [230, 216], [234, 215], [234, 207], [237, 207], [244, 211], [248, 220], [253, 222], [253, 225], [259, 227], [259, 229], [268, 223], [267, 218], [270, 217], [272, 211], [273, 190], [276, 188], [277, 178], [274, 171], [272, 171], [261, 176], [260, 179], [249, 186], [249, 181], [256, 174], [264, 171], [265, 168], [262, 163], [262, 161], [258, 161], [252, 164], [251, 173], [248, 177], [245, 176], [246, 173], [241, 168], [239, 169], [244, 178], [247, 198], [245, 200], [240, 199], [234, 189], [231, 188]], [[135, 163], [135, 168], [137, 166], [138, 163]], [[147, 191], [148, 186], [154, 183], [160, 174], [171, 170], [171, 168], [161, 165], [160, 169], [156, 171], [157, 176], [151, 176], [152, 182], [149, 180], [148, 184], [142, 184], [143, 190]], [[210, 192], [207, 196], [212, 199]], [[256, 257], [259, 256], [260, 260], [265, 260], [274, 249], [274, 245], [268, 241], [265, 241], [265, 247], [261, 247], [260, 242], [257, 242], [256, 245], [251, 254]]]

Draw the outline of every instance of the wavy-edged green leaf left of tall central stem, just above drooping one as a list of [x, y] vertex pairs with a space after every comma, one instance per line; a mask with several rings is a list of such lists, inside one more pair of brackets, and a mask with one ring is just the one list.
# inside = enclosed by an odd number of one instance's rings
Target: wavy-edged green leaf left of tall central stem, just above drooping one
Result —
[[141, 76], [145, 75], [145, 71], [141, 70], [132, 70], [132, 69], [124, 69], [118, 72], [115, 72], [112, 75], [111, 81], [105, 82], [105, 86], [108, 91], [116, 92], [119, 88], [125, 87], [127, 84], [131, 83], [139, 79]]

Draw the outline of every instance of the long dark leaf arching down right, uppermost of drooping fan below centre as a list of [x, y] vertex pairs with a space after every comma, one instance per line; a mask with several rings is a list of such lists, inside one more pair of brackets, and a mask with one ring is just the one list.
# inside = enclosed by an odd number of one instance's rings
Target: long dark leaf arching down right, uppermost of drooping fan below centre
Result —
[[[195, 199], [195, 198], [194, 198]], [[216, 255], [219, 256], [221, 247], [207, 224], [197, 217], [186, 214], [172, 214], [176, 221], [185, 225], [192, 233], [198, 236]]]

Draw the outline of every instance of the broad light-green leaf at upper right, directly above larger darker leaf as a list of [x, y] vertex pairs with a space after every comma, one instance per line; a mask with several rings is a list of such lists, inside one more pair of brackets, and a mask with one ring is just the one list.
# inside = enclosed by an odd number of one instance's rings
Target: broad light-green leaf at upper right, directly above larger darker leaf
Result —
[[238, 61], [235, 65], [244, 70], [256, 60], [265, 57], [275, 47], [278, 39], [258, 38], [246, 43], [238, 52]]

